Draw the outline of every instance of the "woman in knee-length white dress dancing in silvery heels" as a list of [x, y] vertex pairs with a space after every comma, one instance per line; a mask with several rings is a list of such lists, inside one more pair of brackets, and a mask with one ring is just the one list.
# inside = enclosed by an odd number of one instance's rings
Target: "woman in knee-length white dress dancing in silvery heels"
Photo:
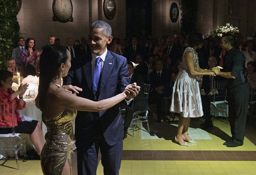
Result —
[[[197, 48], [201, 48], [203, 35], [190, 32], [187, 35], [189, 47], [184, 50], [182, 56], [182, 70], [178, 73], [173, 86], [172, 104], [170, 111], [180, 113], [178, 132], [175, 142], [182, 146], [189, 143], [197, 143], [187, 134], [190, 118], [202, 117], [203, 109], [200, 90], [197, 81], [198, 75], [214, 75], [211, 70], [201, 69], [198, 64]], [[187, 142], [184, 142], [187, 141]]]

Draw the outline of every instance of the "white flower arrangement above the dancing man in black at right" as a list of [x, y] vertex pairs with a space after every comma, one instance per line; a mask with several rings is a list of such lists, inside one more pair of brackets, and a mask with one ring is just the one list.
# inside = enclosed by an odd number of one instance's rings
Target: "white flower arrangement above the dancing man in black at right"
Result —
[[222, 26], [217, 26], [217, 28], [209, 34], [209, 36], [217, 36], [222, 37], [225, 34], [232, 34], [235, 35], [236, 33], [239, 33], [239, 29], [237, 27], [234, 27], [233, 25], [227, 23]]

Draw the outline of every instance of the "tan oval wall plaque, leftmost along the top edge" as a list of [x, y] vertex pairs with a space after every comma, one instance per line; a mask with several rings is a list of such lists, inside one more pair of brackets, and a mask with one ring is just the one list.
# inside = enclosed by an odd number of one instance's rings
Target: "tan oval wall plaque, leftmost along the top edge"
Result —
[[71, 0], [53, 0], [53, 21], [73, 21], [73, 5]]

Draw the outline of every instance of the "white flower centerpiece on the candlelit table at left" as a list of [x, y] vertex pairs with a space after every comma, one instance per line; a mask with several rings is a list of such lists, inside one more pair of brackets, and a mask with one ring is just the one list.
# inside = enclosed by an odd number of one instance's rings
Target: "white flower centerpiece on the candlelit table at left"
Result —
[[[28, 75], [26, 78], [22, 79], [22, 84], [28, 83], [28, 89], [24, 94], [24, 98], [30, 98], [29, 96], [29, 90], [34, 90], [35, 94], [38, 94], [38, 86], [39, 86], [39, 77]], [[19, 85], [16, 82], [12, 83], [12, 89], [14, 91], [17, 91], [19, 88]]]

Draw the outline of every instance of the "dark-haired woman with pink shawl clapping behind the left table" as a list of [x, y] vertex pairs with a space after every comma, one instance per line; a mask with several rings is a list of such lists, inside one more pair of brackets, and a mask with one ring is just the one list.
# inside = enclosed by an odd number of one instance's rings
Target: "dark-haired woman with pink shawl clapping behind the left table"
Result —
[[26, 39], [26, 49], [21, 52], [21, 60], [24, 64], [24, 77], [39, 75], [39, 60], [42, 51], [36, 51], [34, 46], [35, 40], [33, 38]]

